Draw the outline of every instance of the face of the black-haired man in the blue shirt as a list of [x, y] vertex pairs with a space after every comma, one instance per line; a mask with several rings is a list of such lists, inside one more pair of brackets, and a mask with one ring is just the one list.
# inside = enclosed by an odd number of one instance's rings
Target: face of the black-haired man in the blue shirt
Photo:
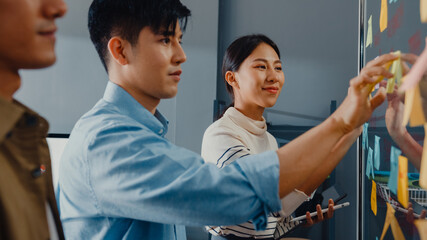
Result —
[[181, 63], [186, 56], [181, 47], [182, 31], [176, 25], [155, 34], [150, 27], [139, 33], [138, 42], [132, 47], [127, 78], [127, 90], [137, 99], [158, 104], [160, 99], [172, 98], [178, 91]]

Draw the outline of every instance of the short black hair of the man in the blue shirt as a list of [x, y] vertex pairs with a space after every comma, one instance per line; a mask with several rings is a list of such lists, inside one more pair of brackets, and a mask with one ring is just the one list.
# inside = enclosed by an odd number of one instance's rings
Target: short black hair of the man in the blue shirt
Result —
[[135, 45], [144, 27], [156, 34], [172, 29], [174, 35], [177, 22], [185, 30], [190, 15], [179, 0], [94, 0], [89, 8], [90, 39], [108, 71], [107, 45], [112, 37], [119, 36]]

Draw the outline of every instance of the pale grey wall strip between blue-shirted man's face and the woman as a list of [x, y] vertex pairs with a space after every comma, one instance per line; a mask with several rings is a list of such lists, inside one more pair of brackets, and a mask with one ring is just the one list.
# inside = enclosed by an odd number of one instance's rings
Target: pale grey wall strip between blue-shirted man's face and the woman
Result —
[[187, 62], [176, 97], [177, 145], [200, 152], [203, 133], [212, 123], [216, 94], [218, 0], [182, 0], [192, 11], [184, 35]]

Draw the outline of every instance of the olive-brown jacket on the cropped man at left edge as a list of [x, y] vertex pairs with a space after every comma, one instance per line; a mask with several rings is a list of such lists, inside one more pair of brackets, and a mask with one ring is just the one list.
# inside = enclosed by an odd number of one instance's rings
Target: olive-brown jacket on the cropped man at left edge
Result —
[[[0, 98], [0, 239], [50, 239], [50, 206], [64, 239], [46, 135], [49, 125], [17, 101]], [[52, 230], [52, 229], [51, 229]]]

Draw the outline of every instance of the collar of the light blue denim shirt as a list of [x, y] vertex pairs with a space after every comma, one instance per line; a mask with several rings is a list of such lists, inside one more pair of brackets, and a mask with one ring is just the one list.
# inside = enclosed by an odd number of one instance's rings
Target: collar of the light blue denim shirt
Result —
[[157, 109], [153, 115], [119, 85], [108, 81], [103, 99], [116, 105], [125, 115], [144, 124], [158, 135], [166, 135], [168, 120]]

